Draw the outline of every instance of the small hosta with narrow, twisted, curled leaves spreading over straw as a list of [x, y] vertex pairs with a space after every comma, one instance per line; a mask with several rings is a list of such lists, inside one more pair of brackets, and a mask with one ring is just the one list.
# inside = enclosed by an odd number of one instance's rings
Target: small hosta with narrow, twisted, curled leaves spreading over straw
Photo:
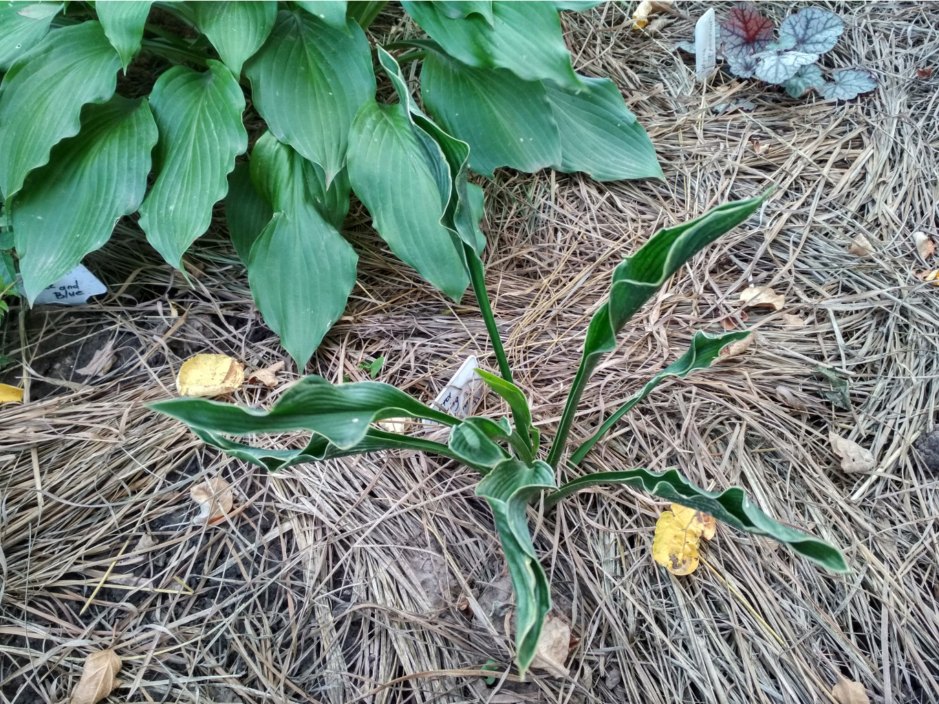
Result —
[[[367, 119], [384, 120], [389, 125], [388, 130], [400, 130], [403, 135], [418, 134], [418, 139], [423, 139], [415, 130], [424, 123], [416, 113], [408, 117], [408, 105], [376, 111], [376, 117]], [[432, 133], [427, 127], [424, 136]], [[507, 361], [495, 336], [493, 344], [502, 375], [483, 370], [479, 370], [479, 374], [485, 384], [506, 401], [511, 421], [484, 417], [459, 419], [425, 406], [387, 384], [362, 381], [333, 385], [319, 376], [300, 379], [285, 390], [269, 410], [196, 398], [162, 401], [150, 407], [187, 423], [209, 445], [270, 471], [302, 462], [394, 449], [433, 452], [478, 471], [482, 479], [476, 486], [476, 495], [484, 497], [492, 509], [516, 592], [516, 665], [522, 674], [531, 666], [551, 606], [547, 577], [528, 528], [528, 507], [538, 497], [544, 497], [545, 506], [551, 507], [563, 497], [598, 483], [629, 484], [656, 497], [710, 513], [733, 528], [773, 538], [829, 570], [844, 572], [847, 564], [837, 549], [807, 533], [780, 525], [752, 505], [743, 490], [736, 487], [722, 492], [704, 491], [675, 469], [654, 472], [643, 468], [595, 472], [560, 485], [556, 482], [580, 396], [598, 362], [616, 347], [619, 331], [685, 261], [747, 220], [764, 198], [765, 195], [715, 207], [696, 220], [660, 230], [615, 269], [608, 298], [591, 320], [573, 388], [557, 435], [546, 453], [541, 447], [540, 433], [532, 422], [525, 394], [512, 383]], [[478, 258], [472, 256], [475, 254], [474, 237], [477, 237], [474, 232], [466, 234], [463, 251], [478, 262]], [[493, 334], [495, 325], [491, 311], [484, 309], [484, 316]], [[706, 369], [724, 346], [746, 335], [746, 331], [720, 335], [696, 332], [687, 352], [602, 422], [593, 437], [574, 452], [562, 473], [569, 474], [570, 469], [576, 468], [593, 444], [663, 379], [685, 377], [695, 370]], [[376, 424], [403, 417], [448, 426], [447, 443], [390, 433]], [[309, 431], [312, 436], [307, 445], [298, 450], [265, 450], [232, 439], [300, 430]]]

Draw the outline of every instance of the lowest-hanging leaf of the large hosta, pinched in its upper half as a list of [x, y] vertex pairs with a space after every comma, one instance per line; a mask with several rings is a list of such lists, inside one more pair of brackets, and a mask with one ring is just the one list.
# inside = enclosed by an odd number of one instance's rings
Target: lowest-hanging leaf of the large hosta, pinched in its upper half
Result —
[[[266, 132], [254, 145], [251, 175], [273, 218], [248, 254], [248, 283], [264, 321], [302, 369], [346, 308], [358, 256], [317, 207], [322, 171]], [[331, 190], [340, 189], [340, 179]], [[346, 186], [346, 209], [348, 208]], [[345, 212], [343, 212], [345, 216]], [[339, 218], [342, 222], [342, 217]]]

